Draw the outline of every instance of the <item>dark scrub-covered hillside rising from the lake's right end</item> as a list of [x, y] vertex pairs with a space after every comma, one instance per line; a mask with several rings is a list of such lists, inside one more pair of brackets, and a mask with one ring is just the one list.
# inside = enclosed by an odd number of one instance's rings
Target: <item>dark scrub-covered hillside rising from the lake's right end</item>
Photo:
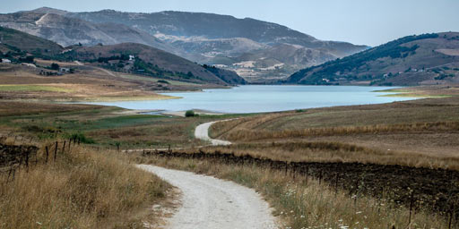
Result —
[[459, 33], [409, 36], [301, 70], [287, 83], [427, 85], [459, 82]]

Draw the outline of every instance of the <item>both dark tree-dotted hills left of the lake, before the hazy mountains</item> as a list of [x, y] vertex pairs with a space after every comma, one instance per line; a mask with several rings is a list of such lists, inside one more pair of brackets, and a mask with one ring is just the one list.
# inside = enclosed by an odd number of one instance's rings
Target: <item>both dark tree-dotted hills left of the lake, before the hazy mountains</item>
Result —
[[[15, 62], [33, 62], [41, 57], [50, 60], [81, 61], [118, 72], [132, 72], [158, 78], [212, 84], [245, 84], [235, 72], [210, 68], [208, 71], [178, 55], [136, 43], [111, 46], [61, 47], [53, 41], [18, 30], [0, 27], [0, 57]], [[129, 55], [135, 56], [130, 58]]]

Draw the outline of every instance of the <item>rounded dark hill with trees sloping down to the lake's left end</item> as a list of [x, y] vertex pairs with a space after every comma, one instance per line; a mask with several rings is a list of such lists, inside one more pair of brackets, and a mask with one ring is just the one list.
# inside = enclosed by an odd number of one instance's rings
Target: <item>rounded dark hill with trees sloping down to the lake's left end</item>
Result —
[[[129, 55], [133, 55], [134, 60], [129, 60]], [[123, 43], [111, 46], [75, 47], [66, 56], [84, 62], [99, 63], [115, 71], [134, 72], [178, 81], [227, 83], [201, 65], [142, 44]], [[236, 74], [234, 78], [239, 77]]]

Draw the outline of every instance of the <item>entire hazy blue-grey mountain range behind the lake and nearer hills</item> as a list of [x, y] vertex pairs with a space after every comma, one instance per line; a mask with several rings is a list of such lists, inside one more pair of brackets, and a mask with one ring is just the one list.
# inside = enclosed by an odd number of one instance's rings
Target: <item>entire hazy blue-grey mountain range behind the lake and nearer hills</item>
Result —
[[318, 40], [271, 22], [212, 13], [69, 13], [39, 8], [0, 14], [0, 25], [65, 47], [139, 43], [260, 82], [277, 81], [368, 48]]

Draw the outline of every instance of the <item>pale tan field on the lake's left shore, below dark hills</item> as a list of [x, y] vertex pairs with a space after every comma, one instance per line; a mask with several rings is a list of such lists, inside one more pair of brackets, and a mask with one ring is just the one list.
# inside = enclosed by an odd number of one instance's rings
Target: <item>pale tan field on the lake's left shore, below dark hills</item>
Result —
[[[73, 69], [63, 75], [40, 75], [55, 72], [45, 69], [51, 64]], [[171, 81], [123, 72], [111, 72], [93, 65], [73, 62], [37, 60], [37, 68], [19, 64], [0, 64], [0, 98], [51, 101], [106, 101], [169, 99], [157, 91], [196, 90], [217, 85]], [[17, 93], [21, 91], [22, 93]]]

